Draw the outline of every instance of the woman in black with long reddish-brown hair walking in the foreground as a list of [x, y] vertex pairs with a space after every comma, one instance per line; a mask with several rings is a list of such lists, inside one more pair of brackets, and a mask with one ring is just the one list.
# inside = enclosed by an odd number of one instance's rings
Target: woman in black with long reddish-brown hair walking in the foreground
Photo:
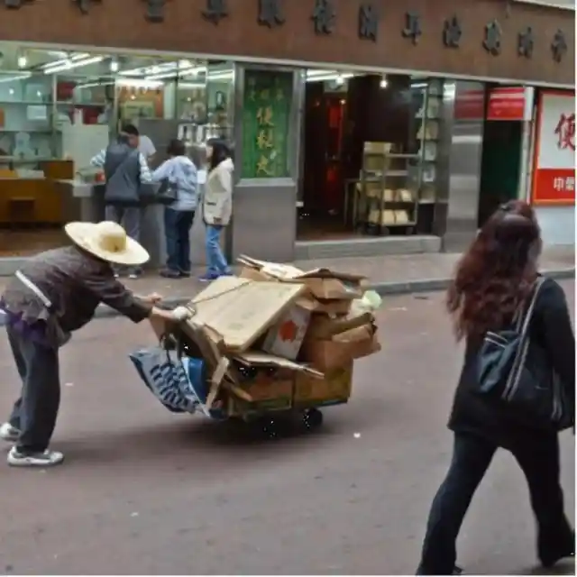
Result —
[[[574, 531], [564, 514], [559, 481], [558, 433], [531, 426], [477, 389], [477, 358], [484, 335], [513, 324], [539, 277], [540, 252], [532, 208], [511, 201], [490, 217], [457, 266], [447, 310], [466, 350], [449, 420], [453, 459], [431, 507], [417, 574], [460, 572], [455, 566], [457, 536], [498, 448], [513, 454], [527, 478], [540, 562], [550, 567], [574, 554]], [[575, 339], [563, 289], [553, 279], [541, 284], [528, 330], [545, 350], [574, 408]]]

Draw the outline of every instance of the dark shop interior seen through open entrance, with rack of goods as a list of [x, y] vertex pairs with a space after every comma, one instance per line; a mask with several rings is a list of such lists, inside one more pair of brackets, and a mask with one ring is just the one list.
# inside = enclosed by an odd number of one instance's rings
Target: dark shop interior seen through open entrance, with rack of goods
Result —
[[309, 70], [298, 240], [431, 234], [443, 81]]

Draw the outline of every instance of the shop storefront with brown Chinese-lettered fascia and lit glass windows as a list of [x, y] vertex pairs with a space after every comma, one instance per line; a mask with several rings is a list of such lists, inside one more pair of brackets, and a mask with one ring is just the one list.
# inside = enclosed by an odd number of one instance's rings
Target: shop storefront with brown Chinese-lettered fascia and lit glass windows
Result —
[[[0, 7], [0, 38], [0, 257], [95, 217], [54, 183], [126, 121], [155, 161], [175, 136], [199, 163], [207, 136], [234, 142], [233, 254], [384, 236], [451, 249], [494, 204], [483, 174], [502, 154], [483, 142], [531, 147], [532, 118], [491, 117], [498, 84], [574, 85], [574, 11], [523, 2], [30, 0]], [[463, 114], [473, 93], [481, 111]]]

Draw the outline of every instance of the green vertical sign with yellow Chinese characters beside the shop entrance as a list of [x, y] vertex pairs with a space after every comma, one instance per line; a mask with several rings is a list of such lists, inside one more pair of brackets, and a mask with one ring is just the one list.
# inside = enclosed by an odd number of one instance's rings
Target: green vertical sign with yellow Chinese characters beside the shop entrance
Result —
[[245, 71], [243, 179], [279, 179], [289, 176], [292, 87], [292, 72]]

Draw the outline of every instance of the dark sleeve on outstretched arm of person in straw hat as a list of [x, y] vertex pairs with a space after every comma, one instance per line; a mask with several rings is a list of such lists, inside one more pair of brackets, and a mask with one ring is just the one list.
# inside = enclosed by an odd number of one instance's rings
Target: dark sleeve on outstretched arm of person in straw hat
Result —
[[107, 274], [92, 274], [83, 279], [84, 285], [100, 302], [127, 316], [133, 323], [140, 323], [151, 315], [152, 305], [136, 297], [132, 290], [114, 279], [112, 271]]

